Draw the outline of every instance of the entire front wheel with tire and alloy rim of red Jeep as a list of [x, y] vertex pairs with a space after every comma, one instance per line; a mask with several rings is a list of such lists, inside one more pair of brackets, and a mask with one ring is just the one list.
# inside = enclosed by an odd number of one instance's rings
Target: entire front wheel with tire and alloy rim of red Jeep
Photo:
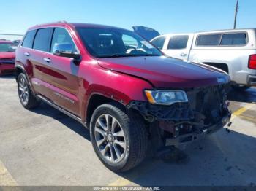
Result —
[[148, 138], [142, 117], [126, 114], [116, 103], [95, 109], [90, 136], [99, 160], [111, 171], [128, 171], [146, 157]]

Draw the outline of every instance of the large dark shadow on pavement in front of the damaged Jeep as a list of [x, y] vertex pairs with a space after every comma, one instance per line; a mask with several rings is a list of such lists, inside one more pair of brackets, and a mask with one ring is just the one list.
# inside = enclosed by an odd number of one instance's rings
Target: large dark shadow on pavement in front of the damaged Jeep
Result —
[[184, 159], [148, 159], [128, 173], [140, 186], [252, 186], [256, 185], [256, 139], [225, 129], [191, 144]]

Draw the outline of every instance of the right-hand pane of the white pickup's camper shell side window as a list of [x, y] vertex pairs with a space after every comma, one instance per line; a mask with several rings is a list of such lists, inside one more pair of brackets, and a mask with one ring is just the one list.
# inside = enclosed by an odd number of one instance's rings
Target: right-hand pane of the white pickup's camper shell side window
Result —
[[246, 34], [245, 33], [236, 33], [236, 34], [223, 34], [222, 41], [220, 45], [245, 45], [247, 43]]

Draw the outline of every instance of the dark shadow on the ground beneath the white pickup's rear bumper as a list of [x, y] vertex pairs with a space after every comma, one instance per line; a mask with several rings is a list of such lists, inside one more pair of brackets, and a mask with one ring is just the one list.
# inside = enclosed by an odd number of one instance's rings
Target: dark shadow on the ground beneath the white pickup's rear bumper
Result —
[[248, 90], [239, 91], [239, 90], [230, 90], [230, 93], [227, 95], [227, 99], [230, 101], [238, 101], [245, 103], [256, 102], [256, 87], [251, 87]]

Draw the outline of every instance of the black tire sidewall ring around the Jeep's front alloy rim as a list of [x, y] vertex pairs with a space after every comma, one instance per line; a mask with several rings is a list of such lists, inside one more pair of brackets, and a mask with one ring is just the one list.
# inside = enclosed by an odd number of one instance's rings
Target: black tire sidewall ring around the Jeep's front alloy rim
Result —
[[[121, 112], [121, 110], [119, 110], [119, 112]], [[118, 120], [119, 124], [121, 125], [122, 129], [124, 130], [124, 137], [127, 144], [127, 150], [125, 152], [124, 158], [121, 161], [116, 163], [111, 163], [109, 160], [105, 159], [105, 157], [102, 156], [95, 141], [95, 137], [94, 137], [95, 124], [98, 117], [101, 116], [102, 114], [110, 114], [111, 116], [115, 117], [116, 120]], [[94, 150], [97, 156], [99, 157], [99, 160], [101, 160], [102, 163], [104, 163], [108, 168], [110, 168], [110, 170], [118, 171], [119, 169], [123, 168], [124, 165], [127, 164], [127, 161], [129, 159], [130, 141], [131, 141], [129, 136], [129, 122], [123, 119], [123, 117], [121, 117], [121, 115], [118, 112], [112, 109], [110, 105], [108, 106], [107, 104], [105, 104], [105, 105], [99, 106], [94, 111], [94, 114], [92, 115], [91, 122], [90, 122], [90, 136], [91, 136], [91, 144], [93, 145]]]

